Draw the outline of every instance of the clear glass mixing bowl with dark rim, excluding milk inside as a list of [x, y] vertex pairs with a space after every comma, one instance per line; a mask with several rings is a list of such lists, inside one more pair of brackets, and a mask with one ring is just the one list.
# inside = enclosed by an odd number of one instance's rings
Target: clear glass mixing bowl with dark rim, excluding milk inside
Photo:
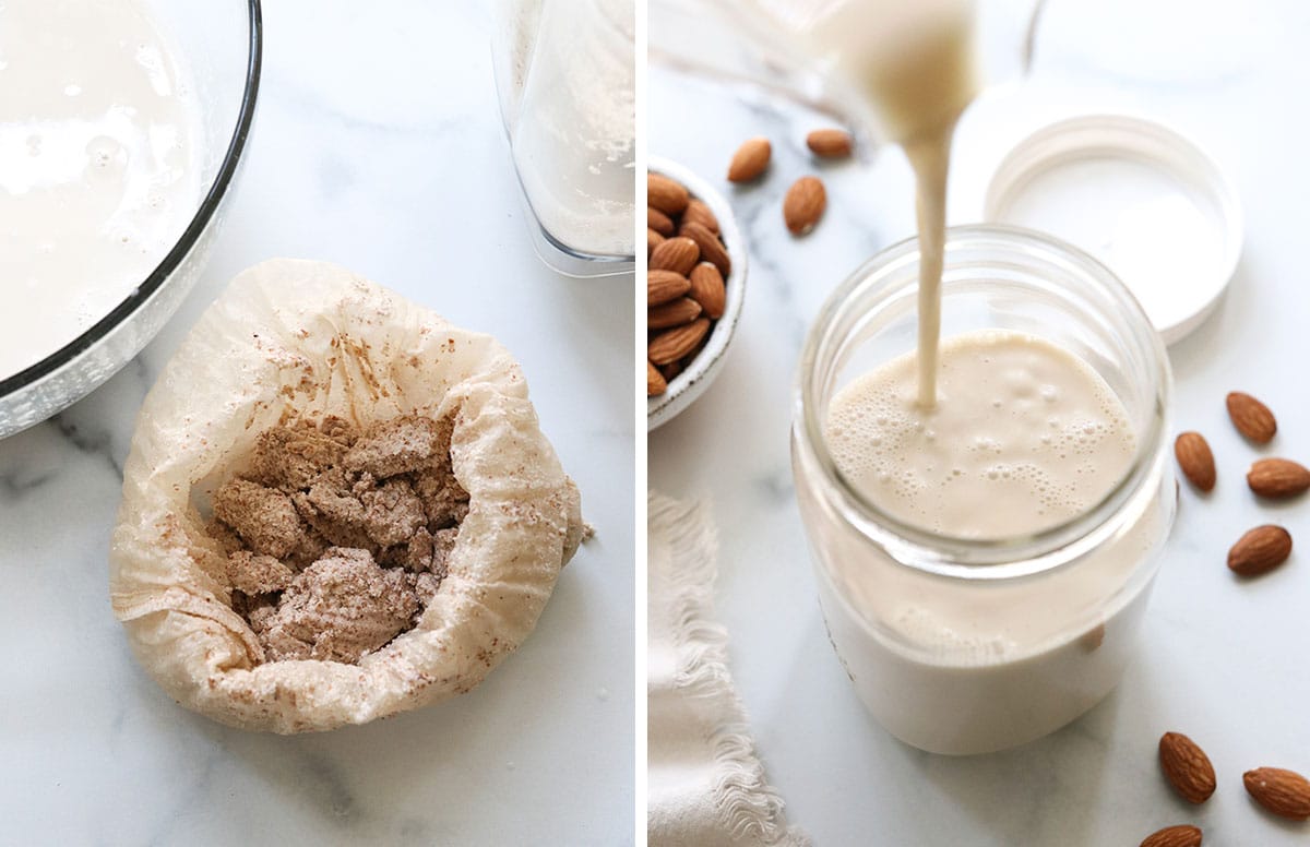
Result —
[[155, 338], [199, 278], [236, 181], [259, 90], [259, 0], [147, 5], [190, 65], [202, 109], [200, 183], [208, 187], [173, 247], [113, 312], [37, 364], [0, 380], [0, 437], [81, 399]]

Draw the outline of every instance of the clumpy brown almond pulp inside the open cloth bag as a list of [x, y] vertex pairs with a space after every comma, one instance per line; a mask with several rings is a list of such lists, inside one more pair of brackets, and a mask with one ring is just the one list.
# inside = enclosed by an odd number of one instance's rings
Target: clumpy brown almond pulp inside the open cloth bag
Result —
[[214, 492], [208, 532], [265, 661], [358, 662], [418, 622], [469, 511], [451, 429], [414, 415], [276, 427]]

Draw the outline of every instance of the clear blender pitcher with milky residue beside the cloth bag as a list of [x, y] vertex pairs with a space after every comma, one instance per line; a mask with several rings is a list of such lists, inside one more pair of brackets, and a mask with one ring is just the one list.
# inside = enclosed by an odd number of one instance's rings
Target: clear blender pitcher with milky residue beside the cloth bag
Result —
[[496, 0], [500, 114], [541, 259], [569, 276], [635, 257], [631, 0]]

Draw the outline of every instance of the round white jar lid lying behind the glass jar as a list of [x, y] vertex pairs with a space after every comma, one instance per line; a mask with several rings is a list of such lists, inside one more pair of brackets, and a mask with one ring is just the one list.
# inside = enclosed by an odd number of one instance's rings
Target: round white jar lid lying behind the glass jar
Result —
[[1167, 344], [1205, 319], [1242, 253], [1241, 203], [1214, 161], [1127, 115], [1069, 118], [1019, 141], [992, 174], [982, 216], [1100, 259]]

